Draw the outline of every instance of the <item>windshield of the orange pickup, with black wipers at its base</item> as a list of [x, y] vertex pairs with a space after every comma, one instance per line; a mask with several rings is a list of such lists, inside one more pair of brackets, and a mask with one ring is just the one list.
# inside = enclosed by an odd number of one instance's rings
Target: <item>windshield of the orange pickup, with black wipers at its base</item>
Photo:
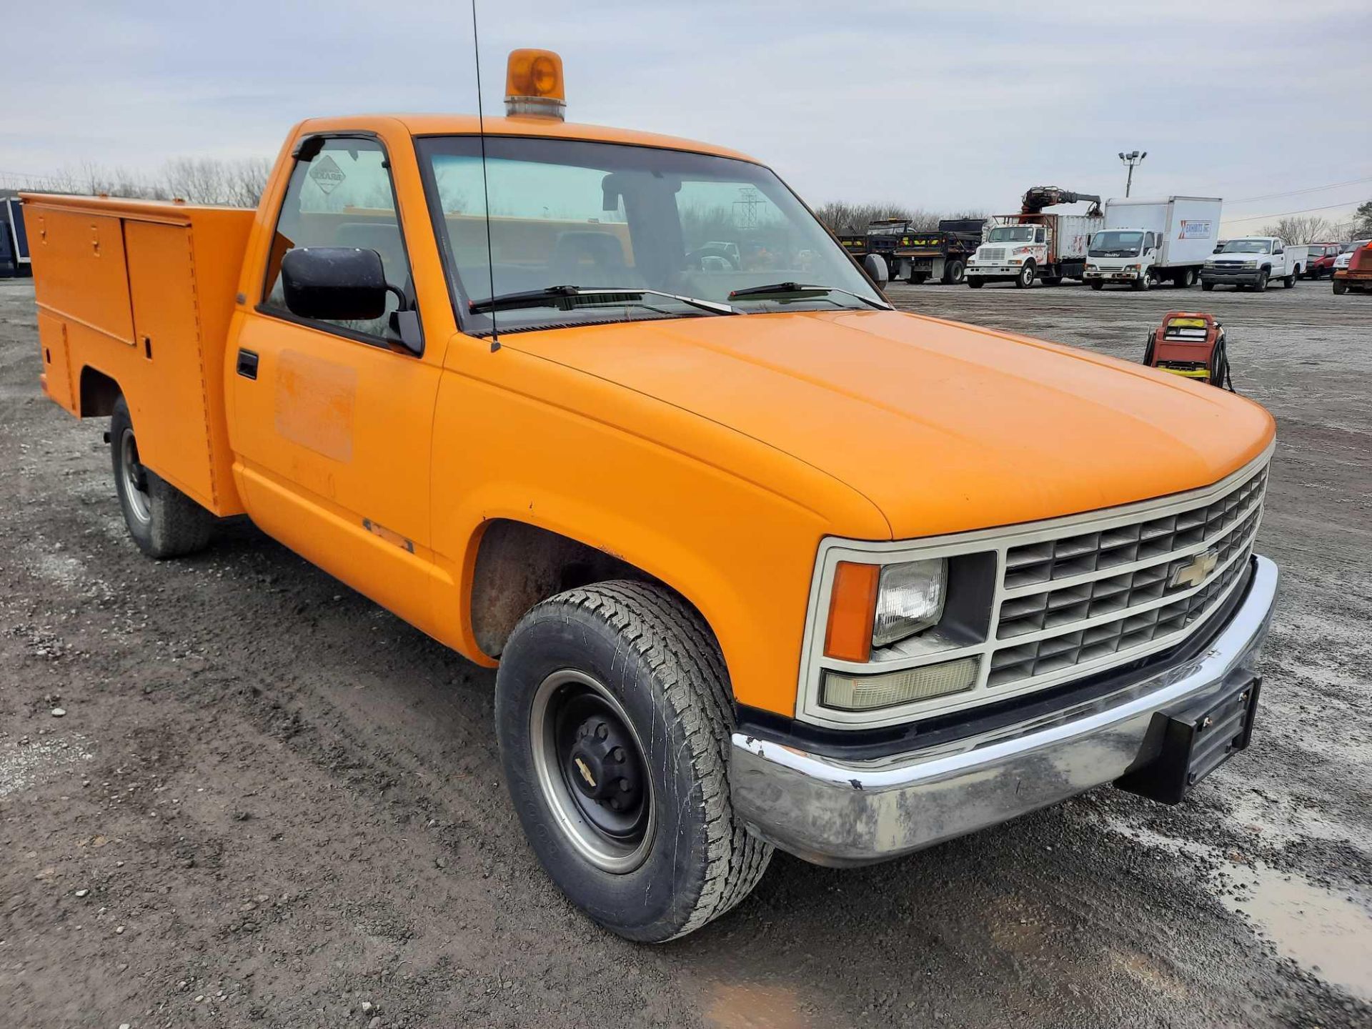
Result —
[[[730, 299], [794, 280], [882, 303], [823, 226], [759, 165], [653, 147], [487, 137], [483, 185], [477, 137], [416, 145], [460, 314], [472, 331], [490, 331], [491, 314], [472, 314], [471, 300], [554, 285], [641, 287], [744, 313], [868, 307], [837, 292]], [[495, 311], [502, 332], [663, 317], [708, 313], [656, 295]]]

